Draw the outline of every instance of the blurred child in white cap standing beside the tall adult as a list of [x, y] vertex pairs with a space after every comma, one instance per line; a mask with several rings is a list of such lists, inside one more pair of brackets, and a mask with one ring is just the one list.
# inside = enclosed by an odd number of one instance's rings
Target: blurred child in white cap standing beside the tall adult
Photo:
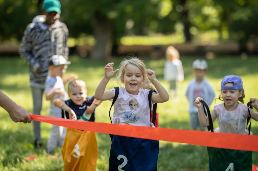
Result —
[[[46, 100], [50, 100], [49, 116], [62, 118], [62, 111], [53, 104], [54, 99], [67, 100], [68, 95], [64, 84], [73, 78], [78, 78], [75, 74], [69, 74], [62, 79], [66, 72], [67, 65], [70, 64], [62, 55], [53, 55], [49, 61], [49, 75], [45, 82]], [[69, 116], [70, 119], [76, 119], [76, 115]], [[62, 146], [65, 139], [66, 129], [62, 126], [53, 125], [49, 140], [47, 142], [47, 153], [51, 153], [57, 147]]]

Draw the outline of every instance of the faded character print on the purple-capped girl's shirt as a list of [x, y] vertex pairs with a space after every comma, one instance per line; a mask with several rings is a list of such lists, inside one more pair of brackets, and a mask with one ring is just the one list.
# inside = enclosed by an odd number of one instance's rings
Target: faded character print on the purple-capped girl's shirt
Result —
[[238, 116], [236, 113], [226, 113], [223, 117], [224, 128], [227, 133], [238, 134]]

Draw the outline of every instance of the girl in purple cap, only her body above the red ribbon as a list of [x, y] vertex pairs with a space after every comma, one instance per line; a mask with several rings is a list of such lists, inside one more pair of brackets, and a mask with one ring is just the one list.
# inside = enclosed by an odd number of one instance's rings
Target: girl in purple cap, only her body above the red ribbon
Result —
[[[236, 75], [225, 76], [221, 82], [221, 95], [218, 98], [224, 103], [215, 105], [211, 112], [212, 121], [218, 118], [219, 128], [214, 129], [214, 132], [248, 134], [248, 130], [245, 129], [245, 123], [249, 113], [246, 105], [244, 105], [244, 97], [242, 79]], [[194, 104], [198, 108], [201, 126], [206, 127], [209, 126], [209, 119], [204, 113], [200, 100], [203, 99], [197, 97]], [[250, 98], [249, 100], [252, 102], [251, 105], [258, 110], [257, 98]], [[258, 121], [258, 113], [251, 108], [249, 110], [252, 119]]]

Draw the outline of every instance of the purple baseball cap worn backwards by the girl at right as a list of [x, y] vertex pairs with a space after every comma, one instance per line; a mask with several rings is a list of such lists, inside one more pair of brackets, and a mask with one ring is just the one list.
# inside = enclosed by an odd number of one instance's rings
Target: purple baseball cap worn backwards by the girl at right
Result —
[[[226, 83], [234, 83], [234, 86], [232, 87], [227, 87], [224, 86]], [[221, 84], [220, 84], [220, 89], [225, 90], [225, 89], [233, 89], [233, 90], [243, 90], [243, 81], [239, 76], [236, 75], [226, 75]]]

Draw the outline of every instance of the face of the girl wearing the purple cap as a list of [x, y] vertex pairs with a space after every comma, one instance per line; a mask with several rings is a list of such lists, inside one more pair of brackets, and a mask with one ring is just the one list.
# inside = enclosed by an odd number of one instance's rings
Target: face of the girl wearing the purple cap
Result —
[[[232, 87], [234, 83], [226, 83], [225, 86]], [[238, 99], [243, 95], [243, 90], [240, 92], [233, 89], [221, 90], [221, 95], [225, 108], [228, 111], [234, 111], [238, 106]]]

